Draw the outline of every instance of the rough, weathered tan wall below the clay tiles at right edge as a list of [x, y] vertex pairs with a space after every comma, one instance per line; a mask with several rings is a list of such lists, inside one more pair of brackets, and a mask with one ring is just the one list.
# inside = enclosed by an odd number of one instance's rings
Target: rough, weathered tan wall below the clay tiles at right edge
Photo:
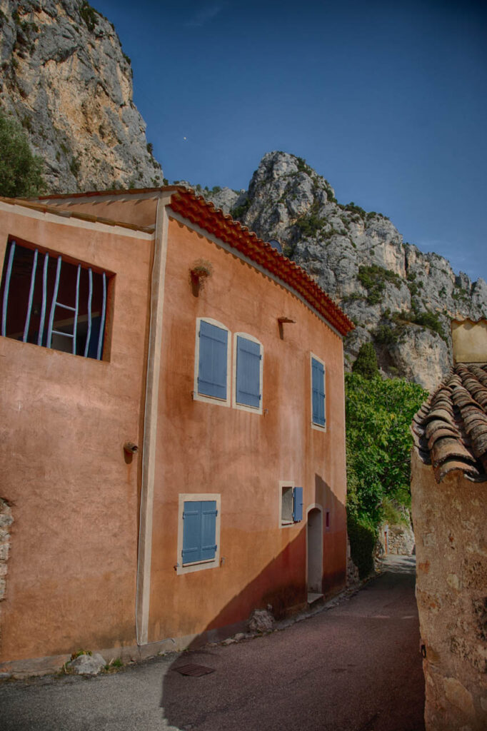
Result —
[[487, 485], [412, 455], [427, 731], [487, 728]]

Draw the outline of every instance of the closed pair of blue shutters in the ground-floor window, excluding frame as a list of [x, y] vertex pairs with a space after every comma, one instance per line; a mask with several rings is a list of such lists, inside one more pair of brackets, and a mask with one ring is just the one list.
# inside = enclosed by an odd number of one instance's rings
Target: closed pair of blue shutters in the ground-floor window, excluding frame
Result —
[[184, 502], [183, 564], [215, 558], [216, 514], [216, 500]]

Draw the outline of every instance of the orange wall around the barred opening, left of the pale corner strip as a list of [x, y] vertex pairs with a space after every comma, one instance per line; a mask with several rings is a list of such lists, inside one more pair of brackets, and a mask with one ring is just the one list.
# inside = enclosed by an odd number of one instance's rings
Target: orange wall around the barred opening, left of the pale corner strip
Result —
[[133, 645], [139, 461], [123, 444], [142, 439], [153, 244], [13, 208], [0, 221], [2, 262], [13, 235], [115, 273], [109, 362], [0, 337], [0, 660]]

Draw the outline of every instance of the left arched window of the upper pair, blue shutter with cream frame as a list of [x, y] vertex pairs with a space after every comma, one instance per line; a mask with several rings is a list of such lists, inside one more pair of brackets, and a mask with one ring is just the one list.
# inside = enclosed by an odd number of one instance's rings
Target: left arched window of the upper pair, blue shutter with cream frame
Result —
[[230, 333], [219, 322], [197, 319], [195, 398], [230, 406]]

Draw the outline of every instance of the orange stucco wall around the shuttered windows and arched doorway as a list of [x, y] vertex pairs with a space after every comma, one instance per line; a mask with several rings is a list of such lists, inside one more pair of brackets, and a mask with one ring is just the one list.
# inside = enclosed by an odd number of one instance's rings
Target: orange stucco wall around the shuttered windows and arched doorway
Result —
[[[291, 604], [306, 600], [306, 520], [279, 528], [279, 480], [303, 486], [305, 516], [315, 503], [331, 510], [325, 592], [343, 586], [346, 564], [341, 338], [291, 292], [178, 221], [168, 239], [149, 640], [241, 621], [283, 588]], [[189, 270], [199, 259], [213, 273], [195, 297]], [[284, 339], [282, 316], [295, 319]], [[261, 341], [265, 415], [193, 400], [197, 317]], [[311, 425], [311, 352], [326, 366], [326, 433]], [[221, 493], [222, 567], [176, 574], [179, 493]]]

